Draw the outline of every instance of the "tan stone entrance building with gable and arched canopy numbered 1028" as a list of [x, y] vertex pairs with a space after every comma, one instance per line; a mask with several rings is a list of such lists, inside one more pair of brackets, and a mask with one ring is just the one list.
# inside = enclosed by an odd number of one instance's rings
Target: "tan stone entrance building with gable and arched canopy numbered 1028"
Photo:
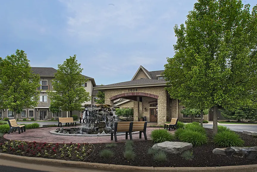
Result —
[[[180, 121], [190, 122], [191, 117], [183, 116], [179, 100], [170, 98], [164, 89], [166, 82], [161, 71], [149, 72], [140, 66], [131, 81], [94, 87], [95, 90], [105, 92], [105, 103], [114, 107], [134, 109], [134, 121], [139, 117], [146, 117], [149, 122], [163, 125], [168, 119], [178, 118]], [[123, 104], [124, 103], [124, 104]], [[208, 120], [208, 115], [204, 115]], [[193, 121], [200, 118], [194, 117]]]

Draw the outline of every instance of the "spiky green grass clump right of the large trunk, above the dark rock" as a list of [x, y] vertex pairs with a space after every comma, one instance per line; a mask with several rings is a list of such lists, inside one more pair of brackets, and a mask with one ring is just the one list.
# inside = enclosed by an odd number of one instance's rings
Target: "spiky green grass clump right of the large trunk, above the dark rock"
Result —
[[215, 145], [222, 147], [231, 147], [231, 146], [243, 146], [244, 141], [233, 131], [221, 131], [218, 132], [214, 137], [213, 141]]

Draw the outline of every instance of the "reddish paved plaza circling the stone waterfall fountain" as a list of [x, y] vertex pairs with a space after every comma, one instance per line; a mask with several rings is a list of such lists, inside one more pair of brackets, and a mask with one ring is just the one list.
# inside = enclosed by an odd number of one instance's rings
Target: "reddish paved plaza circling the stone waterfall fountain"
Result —
[[[30, 129], [26, 130], [26, 132], [23, 132], [21, 134], [18, 134], [18, 131], [10, 133], [10, 134], [5, 134], [4, 138], [8, 140], [24, 140], [26, 142], [47, 142], [47, 143], [83, 143], [83, 142], [88, 142], [88, 143], [107, 143], [107, 142], [115, 142], [114, 138], [111, 140], [111, 136], [87, 136], [87, 137], [82, 137], [82, 136], [59, 136], [59, 135], [54, 135], [50, 134], [49, 132], [51, 130], [54, 130], [58, 127], [51, 127], [51, 128], [37, 128], [37, 129]], [[64, 128], [69, 128], [69, 127], [64, 127]], [[159, 129], [159, 128], [147, 128], [146, 129], [146, 134], [147, 134], [147, 139], [150, 139], [150, 134], [151, 131], [154, 129]], [[174, 132], [173, 129], [170, 131], [171, 133]], [[138, 140], [145, 140], [144, 139], [144, 134], [142, 133], [142, 139], [139, 138], [139, 134], [132, 134], [132, 138], [134, 141]], [[125, 135], [123, 136], [117, 136], [118, 142], [124, 142], [126, 141]]]

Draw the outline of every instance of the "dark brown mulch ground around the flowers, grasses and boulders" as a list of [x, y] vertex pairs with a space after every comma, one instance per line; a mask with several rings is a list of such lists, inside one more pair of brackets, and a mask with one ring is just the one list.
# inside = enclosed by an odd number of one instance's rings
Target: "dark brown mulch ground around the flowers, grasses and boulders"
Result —
[[[230, 165], [250, 165], [250, 164], [257, 164], [257, 161], [247, 160], [240, 157], [235, 156], [223, 156], [223, 155], [215, 155], [212, 154], [212, 150], [214, 148], [219, 148], [218, 146], [214, 145], [212, 142], [212, 129], [205, 128], [206, 133], [209, 137], [208, 144], [200, 146], [200, 147], [193, 147], [192, 151], [194, 154], [194, 158], [192, 160], [186, 160], [181, 157], [181, 154], [177, 155], [167, 155], [166, 162], [156, 162], [153, 159], [153, 155], [148, 154], [148, 148], [151, 148], [154, 143], [151, 140], [142, 140], [134, 142], [134, 152], [136, 153], [136, 158], [132, 161], [127, 161], [123, 157], [123, 152], [125, 151], [125, 143], [116, 143], [116, 147], [109, 147], [106, 148], [106, 143], [98, 143], [98, 144], [85, 144], [84, 149], [86, 153], [82, 153], [83, 145], [80, 145], [77, 151], [79, 153], [75, 153], [77, 145], [73, 146], [72, 157], [68, 157], [67, 151], [65, 151], [65, 156], [61, 157], [61, 153], [59, 152], [59, 148], [62, 148], [63, 145], [59, 144], [45, 147], [42, 146], [43, 143], [30, 143], [30, 149], [34, 151], [28, 151], [28, 145], [24, 145], [23, 152], [18, 152], [16, 148], [15, 150], [7, 148], [6, 151], [3, 152], [1, 145], [0, 145], [0, 152], [7, 153], [7, 154], [15, 154], [21, 156], [34, 156], [38, 157], [36, 154], [38, 152], [42, 152], [39, 157], [43, 158], [50, 158], [50, 159], [63, 159], [63, 160], [70, 160], [70, 161], [85, 161], [85, 162], [96, 162], [96, 163], [105, 163], [105, 164], [116, 164], [116, 165], [132, 165], [132, 166], [153, 166], [153, 167], [214, 167], [214, 166], [230, 166]], [[240, 135], [240, 137], [245, 141], [245, 146], [256, 146], [257, 145], [257, 138], [248, 136], [243, 134], [242, 132], [236, 132]], [[5, 144], [7, 140], [3, 137], [0, 138], [0, 143]], [[176, 140], [178, 141], [178, 140]], [[41, 145], [40, 145], [41, 144]], [[67, 147], [70, 146], [70, 143], [67, 144]], [[42, 148], [42, 150], [37, 151], [35, 154], [35, 150], [38, 147]], [[53, 152], [53, 147], [56, 152]], [[40, 149], [39, 148], [39, 149]], [[99, 156], [100, 152], [104, 149], [109, 149], [114, 152], [114, 156], [112, 158], [104, 159]], [[45, 156], [44, 152], [47, 150], [48, 155]], [[54, 154], [56, 154], [54, 156]], [[78, 156], [83, 156], [80, 160]]]

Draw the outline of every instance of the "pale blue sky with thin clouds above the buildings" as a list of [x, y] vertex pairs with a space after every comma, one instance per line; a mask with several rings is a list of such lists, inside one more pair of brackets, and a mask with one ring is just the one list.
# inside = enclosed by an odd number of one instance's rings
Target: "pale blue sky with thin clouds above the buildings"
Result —
[[[140, 65], [164, 70], [175, 24], [196, 0], [0, 0], [0, 57], [26, 52], [33, 67], [57, 69], [77, 55], [97, 85], [129, 81]], [[253, 7], [256, 0], [243, 0]]]

